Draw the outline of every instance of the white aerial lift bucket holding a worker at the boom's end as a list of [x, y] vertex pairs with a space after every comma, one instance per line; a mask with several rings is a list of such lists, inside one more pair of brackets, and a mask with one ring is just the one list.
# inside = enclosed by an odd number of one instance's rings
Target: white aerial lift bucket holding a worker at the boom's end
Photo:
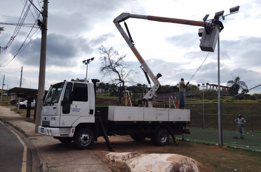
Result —
[[203, 35], [200, 41], [200, 49], [201, 51], [214, 52], [216, 47], [216, 42], [219, 37], [220, 27], [219, 25], [214, 25], [212, 29], [210, 29], [210, 33], [207, 34], [204, 29]]

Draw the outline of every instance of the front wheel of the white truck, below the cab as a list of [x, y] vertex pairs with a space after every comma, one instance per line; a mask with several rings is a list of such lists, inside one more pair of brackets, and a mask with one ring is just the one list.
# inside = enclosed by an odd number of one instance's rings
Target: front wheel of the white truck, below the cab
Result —
[[78, 149], [89, 149], [94, 143], [94, 134], [90, 129], [80, 129], [77, 131], [73, 142]]

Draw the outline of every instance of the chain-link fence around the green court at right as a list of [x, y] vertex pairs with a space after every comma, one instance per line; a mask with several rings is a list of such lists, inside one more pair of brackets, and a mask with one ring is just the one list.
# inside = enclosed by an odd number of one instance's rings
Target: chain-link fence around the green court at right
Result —
[[[226, 146], [261, 150], [261, 86], [221, 102], [222, 143]], [[192, 142], [218, 144], [218, 104], [188, 103], [191, 110], [191, 134], [184, 134], [183, 139]], [[246, 120], [244, 139], [240, 138], [238, 115]], [[180, 138], [181, 139], [181, 138]]]

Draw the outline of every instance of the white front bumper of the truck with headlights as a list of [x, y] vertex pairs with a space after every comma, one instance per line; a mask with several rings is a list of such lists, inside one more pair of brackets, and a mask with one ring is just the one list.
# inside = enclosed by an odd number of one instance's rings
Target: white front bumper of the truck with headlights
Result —
[[38, 126], [38, 133], [52, 137], [73, 137], [75, 127], [51, 128]]

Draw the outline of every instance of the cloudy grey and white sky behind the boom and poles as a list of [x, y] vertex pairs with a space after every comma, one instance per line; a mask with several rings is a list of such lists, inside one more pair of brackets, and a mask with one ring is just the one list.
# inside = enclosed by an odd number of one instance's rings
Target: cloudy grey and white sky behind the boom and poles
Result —
[[[25, 1], [2, 1], [0, 22], [17, 23]], [[41, 9], [42, 3], [38, 1], [33, 0], [33, 3]], [[131, 61], [133, 69], [139, 72], [138, 76], [133, 76], [134, 84], [147, 84], [138, 60], [113, 23], [113, 19], [123, 12], [202, 21], [206, 14], [210, 14], [211, 19], [217, 11], [224, 10], [224, 15], [229, 14], [229, 8], [234, 6], [240, 6], [239, 13], [221, 20], [224, 30], [220, 33], [220, 82], [226, 85], [228, 80], [233, 79], [232, 75], [239, 75], [248, 88], [252, 88], [261, 83], [261, 1], [258, 0], [49, 0], [45, 87], [48, 89], [50, 84], [72, 78], [83, 79], [86, 65], [82, 61], [91, 57], [95, 59], [88, 65], [88, 78], [109, 82], [109, 77], [102, 78], [99, 74], [101, 62], [97, 48], [100, 45], [126, 53], [125, 60]], [[24, 23], [33, 24], [39, 13], [33, 7], [30, 9]], [[201, 27], [134, 18], [126, 22], [135, 47], [150, 69], [154, 74], [162, 74], [159, 78], [161, 84], [176, 85], [181, 77], [187, 82], [208, 54], [199, 48], [198, 29]], [[4, 47], [16, 26], [0, 24], [0, 27], [5, 29], [0, 34], [0, 44]], [[1, 51], [0, 76], [5, 75], [4, 89], [7, 85], [9, 88], [19, 87], [21, 66], [22, 87], [38, 88], [41, 31], [33, 28], [29, 34], [30, 30], [31, 27], [21, 27], [12, 44], [6, 51]], [[28, 34], [31, 38], [14, 58], [13, 54]], [[217, 66], [216, 47], [190, 83], [217, 84]]]

